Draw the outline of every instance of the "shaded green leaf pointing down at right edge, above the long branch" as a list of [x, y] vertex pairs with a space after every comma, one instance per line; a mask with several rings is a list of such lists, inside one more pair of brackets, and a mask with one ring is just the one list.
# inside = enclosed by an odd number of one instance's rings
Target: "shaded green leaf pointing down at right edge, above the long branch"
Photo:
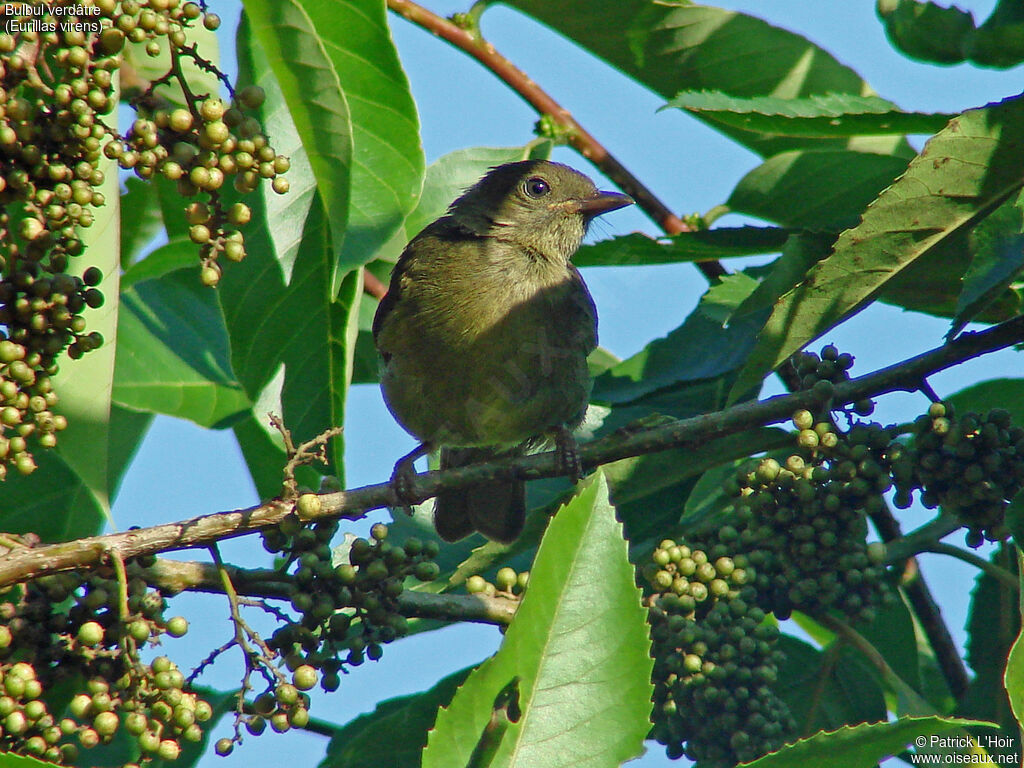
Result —
[[956, 300], [952, 338], [986, 306], [999, 298], [1024, 269], [1024, 211], [1021, 199], [1008, 201], [970, 232], [973, 258]]

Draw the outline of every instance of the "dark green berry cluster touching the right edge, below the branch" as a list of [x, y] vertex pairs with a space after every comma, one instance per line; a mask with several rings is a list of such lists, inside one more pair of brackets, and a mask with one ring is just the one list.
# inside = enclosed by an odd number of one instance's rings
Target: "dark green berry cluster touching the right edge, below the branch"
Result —
[[1004, 409], [956, 415], [933, 402], [914, 421], [912, 444], [894, 456], [893, 476], [897, 507], [916, 490], [926, 507], [961, 518], [971, 547], [1001, 541], [1007, 505], [1024, 487], [1024, 429]]

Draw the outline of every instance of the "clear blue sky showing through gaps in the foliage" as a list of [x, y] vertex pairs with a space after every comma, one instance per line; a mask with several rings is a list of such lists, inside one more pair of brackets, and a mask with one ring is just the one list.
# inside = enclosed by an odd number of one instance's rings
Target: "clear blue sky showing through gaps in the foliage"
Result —
[[[449, 14], [466, 10], [469, 2], [424, 0], [424, 4]], [[722, 5], [806, 35], [858, 71], [881, 95], [905, 109], [955, 112], [1013, 95], [1020, 88], [1019, 71], [936, 68], [903, 58], [886, 41], [873, 3], [736, 0]], [[993, 2], [959, 5], [984, 17]], [[215, 0], [211, 7], [221, 13], [225, 28], [233, 27], [238, 4]], [[514, 145], [529, 140], [537, 117], [514, 93], [475, 61], [439, 40], [400, 18], [392, 16], [391, 22], [419, 104], [428, 162], [461, 147]], [[709, 210], [725, 200], [742, 174], [758, 164], [753, 154], [680, 112], [655, 114], [662, 105], [659, 97], [513, 10], [503, 6], [489, 9], [484, 15], [483, 33], [677, 211]], [[224, 58], [230, 57], [227, 53]], [[571, 151], [558, 150], [555, 159], [597, 176]], [[608, 182], [604, 184], [608, 186]], [[737, 221], [726, 218], [720, 223]], [[594, 228], [594, 234], [605, 238], [632, 230], [656, 231], [639, 211], [630, 210], [607, 217]], [[687, 265], [589, 269], [585, 276], [600, 312], [602, 344], [621, 356], [632, 354], [678, 326], [707, 287], [697, 271]], [[230, 279], [229, 272], [225, 279]], [[866, 373], [939, 344], [946, 328], [944, 321], [880, 306], [837, 329], [824, 341], [833, 341], [856, 355], [854, 372]], [[1013, 369], [1012, 355], [990, 355], [956, 372], [936, 376], [932, 384], [940, 394], [948, 394], [973, 381], [1000, 375], [1019, 375]], [[923, 402], [920, 395], [889, 397], [876, 418], [894, 421], [898, 415], [905, 415], [907, 408], [921, 408]], [[383, 408], [376, 387], [353, 388], [345, 428], [349, 485], [385, 480], [394, 460], [413, 446], [412, 438]], [[256, 501], [230, 433], [207, 432], [160, 418], [128, 472], [114, 515], [119, 527], [124, 528], [245, 507]], [[904, 524], [909, 527], [927, 517], [922, 511], [911, 510]], [[368, 526], [369, 522], [353, 529], [365, 532]], [[268, 562], [255, 540], [236, 540], [225, 543], [222, 549], [225, 559], [238, 563]], [[189, 557], [188, 553], [182, 556]], [[943, 611], [954, 637], [963, 642], [962, 628], [974, 571], [938, 556], [925, 557], [924, 567], [933, 590], [942, 596]], [[194, 627], [187, 639], [170, 641], [167, 647], [182, 667], [194, 665], [210, 647], [229, 636], [223, 598], [185, 596], [172, 606], [176, 607], [172, 612], [184, 613]], [[499, 642], [498, 631], [489, 627], [459, 627], [400, 641], [386, 649], [380, 664], [367, 664], [345, 677], [337, 693], [314, 696], [312, 714], [346, 722], [372, 710], [380, 699], [422, 690], [442, 675], [484, 658]], [[203, 682], [228, 688], [238, 684], [240, 669], [238, 653], [229, 653]], [[217, 735], [226, 735], [224, 727], [220, 730]], [[323, 749], [319, 736], [267, 733], [247, 739], [226, 759], [210, 755], [201, 765], [313, 766]], [[669, 764], [655, 746], [632, 765], [649, 768]]]

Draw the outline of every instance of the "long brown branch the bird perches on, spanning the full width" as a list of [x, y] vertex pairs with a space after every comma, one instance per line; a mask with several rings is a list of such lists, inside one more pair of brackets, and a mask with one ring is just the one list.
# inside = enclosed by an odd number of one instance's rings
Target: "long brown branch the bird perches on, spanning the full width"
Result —
[[[843, 382], [835, 387], [830, 402], [838, 407], [886, 392], [914, 391], [921, 388], [928, 376], [938, 371], [1021, 341], [1024, 341], [1024, 316], [979, 333], [964, 334], [948, 344], [904, 362]], [[803, 391], [744, 402], [727, 411], [647, 429], [624, 428], [584, 445], [580, 451], [580, 459], [585, 468], [592, 469], [620, 459], [671, 447], [706, 447], [715, 439], [753, 427], [782, 422], [799, 409], [816, 409], [819, 404], [820, 400], [815, 392]], [[555, 477], [559, 472], [554, 452], [475, 464], [443, 472], [425, 472], [417, 475], [410, 488], [410, 497], [403, 501], [395, 496], [388, 483], [324, 494], [321, 496], [322, 510], [318, 517], [358, 519], [372, 509], [398, 507], [406, 502], [429, 499], [441, 488], [466, 487], [515, 477], [525, 480]], [[123, 534], [90, 537], [45, 547], [15, 546], [0, 559], [0, 587], [45, 573], [98, 565], [109, 560], [108, 553], [111, 550], [129, 558], [206, 547], [221, 539], [245, 536], [280, 523], [291, 513], [292, 507], [292, 503], [273, 500], [249, 509], [202, 515], [190, 520]]]

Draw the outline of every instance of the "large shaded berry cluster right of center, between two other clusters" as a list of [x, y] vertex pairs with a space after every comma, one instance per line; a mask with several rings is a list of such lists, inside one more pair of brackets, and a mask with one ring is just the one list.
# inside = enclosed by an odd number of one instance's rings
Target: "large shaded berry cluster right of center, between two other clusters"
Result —
[[866, 516], [892, 485], [891, 436], [873, 423], [843, 432], [808, 411], [794, 425], [797, 453], [752, 460], [726, 482], [734, 522], [718, 530], [719, 541], [748, 554], [758, 602], [779, 618], [835, 609], [869, 622], [894, 599], [885, 548], [866, 543]]

